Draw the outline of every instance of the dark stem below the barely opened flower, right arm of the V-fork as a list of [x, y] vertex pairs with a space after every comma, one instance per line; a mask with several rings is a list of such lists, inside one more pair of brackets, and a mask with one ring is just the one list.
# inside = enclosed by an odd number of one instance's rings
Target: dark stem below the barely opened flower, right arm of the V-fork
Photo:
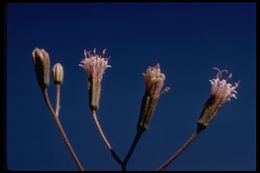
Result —
[[128, 151], [128, 153], [127, 153], [127, 155], [126, 155], [126, 157], [125, 157], [125, 159], [123, 161], [123, 164], [121, 165], [122, 171], [126, 171], [127, 163], [129, 161], [130, 157], [132, 156], [132, 154], [133, 154], [133, 152], [135, 150], [135, 147], [138, 144], [138, 142], [139, 142], [143, 132], [144, 132], [143, 129], [141, 129], [141, 130], [138, 129], [137, 130], [135, 138], [134, 138], [134, 141], [133, 141], [133, 143], [132, 143], [132, 145], [131, 145], [131, 147], [130, 147], [130, 149], [129, 149], [129, 151]]

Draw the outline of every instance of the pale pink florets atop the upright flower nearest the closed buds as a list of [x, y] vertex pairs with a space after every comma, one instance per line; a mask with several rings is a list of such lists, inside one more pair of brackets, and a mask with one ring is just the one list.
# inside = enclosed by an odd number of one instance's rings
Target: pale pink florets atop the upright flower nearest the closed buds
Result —
[[84, 50], [85, 59], [81, 60], [80, 67], [82, 67], [90, 78], [97, 78], [102, 80], [106, 68], [111, 67], [108, 65], [108, 58], [104, 57], [106, 49], [103, 50], [102, 55], [96, 54], [96, 49], [93, 52]]

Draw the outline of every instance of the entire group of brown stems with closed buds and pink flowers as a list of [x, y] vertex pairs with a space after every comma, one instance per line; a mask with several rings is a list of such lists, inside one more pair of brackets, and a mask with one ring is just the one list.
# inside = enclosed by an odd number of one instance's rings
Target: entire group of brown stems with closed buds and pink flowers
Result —
[[[144, 75], [144, 95], [141, 102], [141, 108], [139, 112], [139, 119], [137, 122], [137, 133], [133, 140], [133, 143], [125, 157], [121, 160], [117, 153], [113, 150], [112, 145], [109, 143], [105, 133], [103, 132], [101, 125], [98, 121], [97, 111], [99, 109], [100, 95], [101, 95], [101, 81], [105, 70], [111, 65], [108, 64], [108, 59], [110, 57], [105, 57], [106, 49], [102, 51], [102, 54], [97, 54], [96, 49], [93, 51], [84, 50], [84, 59], [81, 60], [79, 64], [88, 75], [88, 92], [89, 92], [89, 108], [92, 113], [95, 125], [104, 140], [107, 148], [110, 150], [112, 157], [120, 164], [122, 171], [126, 171], [127, 163], [139, 141], [143, 132], [148, 130], [149, 124], [151, 122], [153, 113], [156, 109], [159, 97], [169, 91], [169, 87], [162, 90], [166, 76], [161, 72], [160, 65], [156, 64], [154, 67], [149, 66], [146, 69]], [[67, 135], [62, 127], [59, 120], [59, 109], [60, 109], [60, 87], [63, 83], [64, 70], [60, 63], [56, 63], [52, 68], [53, 82], [56, 85], [56, 110], [52, 107], [49, 100], [48, 90], [50, 84], [50, 58], [48, 52], [44, 49], [35, 48], [32, 52], [33, 65], [36, 72], [36, 78], [39, 86], [42, 89], [42, 93], [45, 102], [54, 117], [55, 123], [57, 124], [61, 135], [64, 139], [66, 146], [68, 147], [73, 159], [75, 160], [78, 168], [83, 171], [84, 168], [81, 165], [77, 155], [75, 154]], [[226, 102], [230, 101], [231, 98], [237, 98], [237, 88], [240, 81], [234, 84], [230, 83], [229, 80], [232, 74], [227, 70], [220, 70], [217, 67], [213, 69], [217, 70], [215, 78], [209, 80], [211, 84], [211, 93], [206, 103], [204, 104], [200, 116], [197, 121], [197, 129], [192, 134], [192, 136], [185, 142], [185, 144], [173, 155], [170, 159], [166, 160], [162, 166], [158, 169], [162, 171], [170, 163], [172, 163], [176, 158], [195, 140], [198, 134], [206, 129], [210, 122], [216, 117], [220, 107]], [[227, 78], [222, 79], [223, 73], [227, 73]]]

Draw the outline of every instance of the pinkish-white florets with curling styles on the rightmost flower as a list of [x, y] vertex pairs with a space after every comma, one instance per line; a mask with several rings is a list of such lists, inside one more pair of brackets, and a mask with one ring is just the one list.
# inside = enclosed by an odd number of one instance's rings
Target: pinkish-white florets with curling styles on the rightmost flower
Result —
[[231, 83], [228, 83], [228, 80], [231, 79], [232, 73], [229, 74], [228, 78], [222, 79], [223, 72], [226, 72], [228, 74], [227, 70], [220, 70], [219, 68], [214, 67], [213, 69], [217, 70], [218, 73], [215, 77], [215, 79], [209, 80], [211, 83], [211, 95], [215, 97], [215, 99], [219, 100], [220, 104], [223, 104], [225, 101], [230, 101], [230, 98], [236, 97], [237, 94], [237, 87], [239, 85], [239, 82], [236, 82], [234, 85]]

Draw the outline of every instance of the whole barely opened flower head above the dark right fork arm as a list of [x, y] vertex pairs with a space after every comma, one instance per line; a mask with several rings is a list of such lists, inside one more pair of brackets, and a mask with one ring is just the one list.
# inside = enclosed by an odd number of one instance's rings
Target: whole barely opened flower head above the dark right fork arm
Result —
[[165, 75], [161, 73], [160, 65], [148, 67], [144, 75], [145, 93], [142, 100], [141, 111], [137, 123], [138, 130], [147, 130], [152, 114], [155, 110], [161, 89], [164, 84]]

